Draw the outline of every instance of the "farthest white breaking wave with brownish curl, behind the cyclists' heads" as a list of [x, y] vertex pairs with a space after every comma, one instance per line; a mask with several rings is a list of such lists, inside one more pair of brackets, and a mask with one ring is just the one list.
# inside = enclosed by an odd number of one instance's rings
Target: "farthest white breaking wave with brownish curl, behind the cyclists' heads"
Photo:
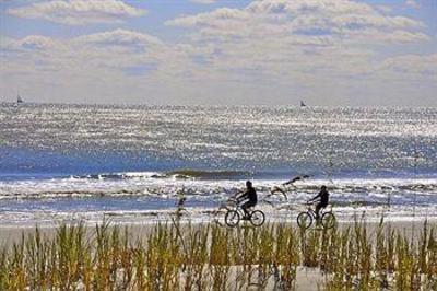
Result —
[[[129, 197], [186, 196], [218, 199], [228, 197], [245, 187], [250, 173], [238, 171], [178, 170], [170, 172], [130, 172], [71, 176], [38, 181], [0, 182], [0, 199], [39, 199], [66, 197]], [[305, 178], [292, 185], [280, 179], [253, 179], [260, 195], [284, 191], [287, 196], [316, 194], [327, 185], [333, 197], [401, 196], [408, 200], [412, 195], [436, 197], [437, 178]], [[277, 188], [280, 190], [277, 190]], [[275, 190], [276, 189], [276, 190]], [[437, 200], [436, 200], [437, 203]]]

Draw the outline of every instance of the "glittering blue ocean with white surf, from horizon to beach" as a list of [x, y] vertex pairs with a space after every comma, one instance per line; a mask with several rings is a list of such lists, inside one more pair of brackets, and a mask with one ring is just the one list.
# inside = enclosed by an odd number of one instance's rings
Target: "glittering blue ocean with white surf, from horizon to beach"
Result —
[[339, 220], [437, 219], [437, 108], [0, 105], [3, 225], [221, 220], [247, 179], [268, 220], [321, 185]]

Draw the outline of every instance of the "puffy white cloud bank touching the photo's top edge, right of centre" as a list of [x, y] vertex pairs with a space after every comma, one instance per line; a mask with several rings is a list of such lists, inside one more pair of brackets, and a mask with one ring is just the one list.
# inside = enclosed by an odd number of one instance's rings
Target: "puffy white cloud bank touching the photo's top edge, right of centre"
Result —
[[181, 16], [166, 24], [197, 27], [201, 34], [217, 38], [302, 36], [315, 33], [341, 36], [342, 32], [359, 33], [369, 28], [378, 28], [380, 33], [389, 35], [393, 31], [410, 32], [424, 25], [410, 18], [391, 15], [378, 8], [346, 0], [259, 0], [245, 9], [221, 8]]

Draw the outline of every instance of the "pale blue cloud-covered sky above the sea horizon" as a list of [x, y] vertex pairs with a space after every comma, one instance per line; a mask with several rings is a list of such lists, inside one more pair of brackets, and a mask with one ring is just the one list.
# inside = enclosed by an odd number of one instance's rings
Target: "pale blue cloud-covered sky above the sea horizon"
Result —
[[0, 0], [0, 102], [437, 106], [437, 0]]

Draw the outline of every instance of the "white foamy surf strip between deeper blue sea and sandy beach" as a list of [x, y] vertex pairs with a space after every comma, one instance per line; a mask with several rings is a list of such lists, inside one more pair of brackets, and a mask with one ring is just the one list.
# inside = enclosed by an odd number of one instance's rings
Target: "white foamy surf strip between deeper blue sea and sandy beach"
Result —
[[[106, 178], [0, 182], [0, 221], [162, 221], [174, 216], [181, 194], [187, 198], [185, 219], [209, 221], [221, 219], [223, 214], [216, 211], [245, 185], [245, 179], [176, 178], [155, 172], [101, 176]], [[258, 207], [271, 220], [294, 220], [321, 185], [328, 186], [340, 220], [349, 221], [361, 213], [369, 220], [378, 220], [382, 214], [388, 220], [437, 218], [436, 178], [308, 178], [283, 188], [286, 196], [271, 195], [282, 182], [253, 181]]]

